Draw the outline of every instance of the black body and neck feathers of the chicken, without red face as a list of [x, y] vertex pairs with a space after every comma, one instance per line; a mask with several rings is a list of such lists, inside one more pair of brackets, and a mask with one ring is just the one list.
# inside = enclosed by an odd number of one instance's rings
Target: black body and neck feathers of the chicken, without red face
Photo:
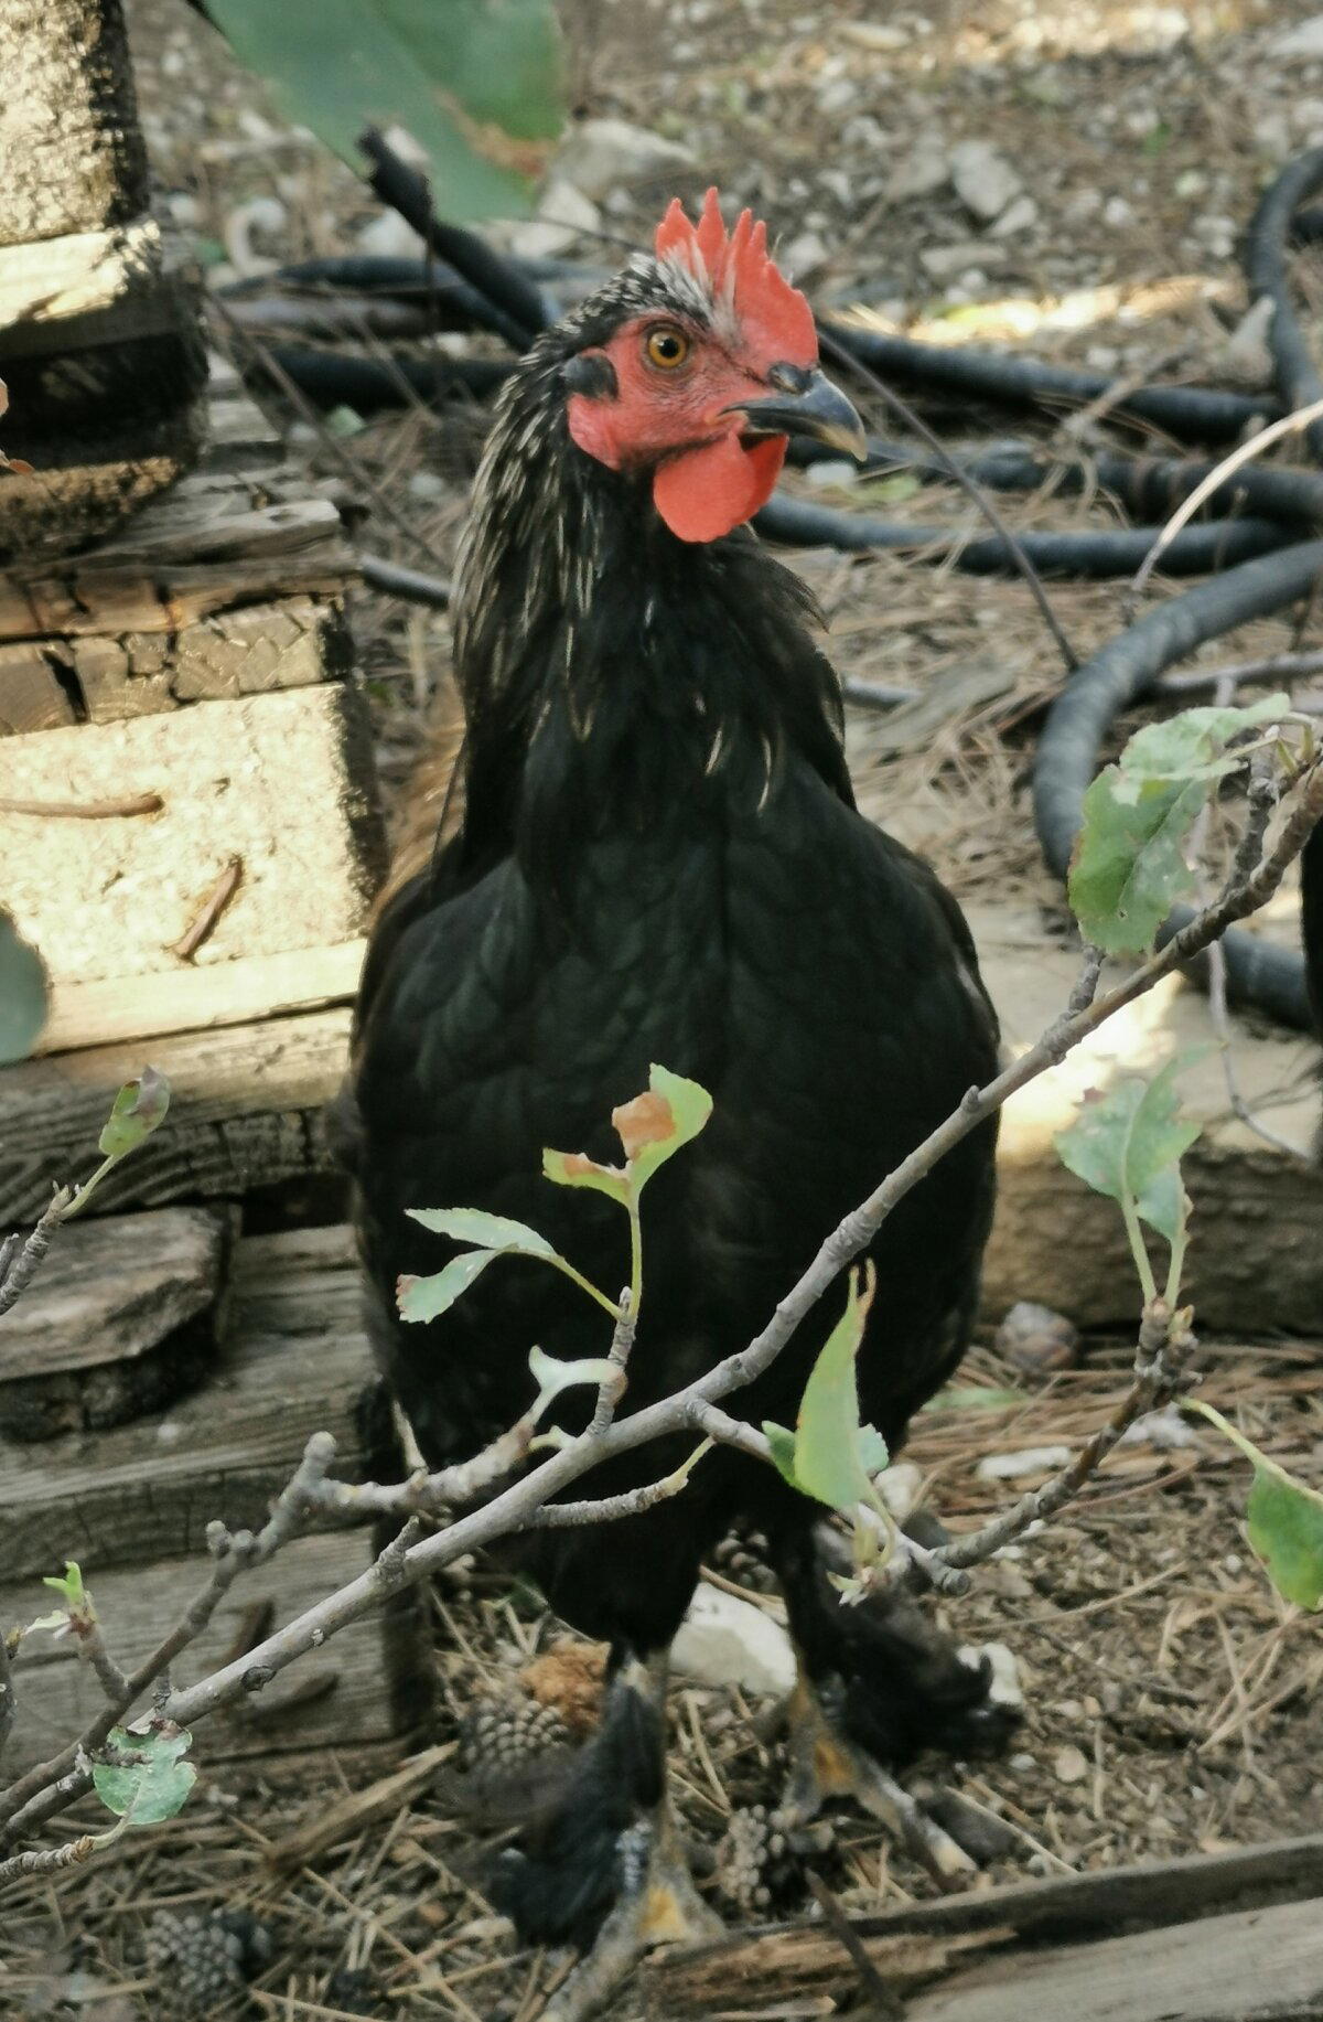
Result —
[[[456, 607], [465, 823], [392, 902], [366, 971], [360, 1225], [376, 1335], [432, 1464], [519, 1415], [533, 1343], [600, 1355], [608, 1322], [545, 1266], [501, 1260], [442, 1320], [404, 1326], [398, 1274], [448, 1256], [404, 1209], [521, 1217], [614, 1292], [626, 1217], [543, 1181], [541, 1148], [618, 1159], [608, 1116], [650, 1062], [703, 1082], [711, 1124], [644, 1199], [632, 1409], [747, 1343], [834, 1223], [996, 1072], [957, 906], [854, 811], [808, 592], [745, 532], [679, 542], [646, 479], [568, 439], [566, 364], [667, 307], [665, 289], [652, 267], [626, 275], [543, 336], [501, 398]], [[968, 1337], [994, 1136], [965, 1138], [871, 1252], [860, 1401], [893, 1446]], [[794, 1423], [842, 1298], [733, 1409]], [[570, 1393], [564, 1421], [588, 1403]], [[691, 1444], [590, 1488], [654, 1478]], [[814, 1523], [770, 1468], [719, 1450], [646, 1516], [519, 1549], [576, 1628], [648, 1652], [735, 1514], [782, 1539]]]

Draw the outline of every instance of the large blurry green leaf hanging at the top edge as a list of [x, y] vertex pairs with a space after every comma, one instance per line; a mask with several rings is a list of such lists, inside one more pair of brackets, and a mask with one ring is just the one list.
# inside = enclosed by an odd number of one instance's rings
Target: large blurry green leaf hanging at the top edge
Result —
[[446, 218], [527, 210], [564, 119], [549, 0], [210, 0], [210, 14], [349, 168], [366, 127], [396, 123], [426, 150]]

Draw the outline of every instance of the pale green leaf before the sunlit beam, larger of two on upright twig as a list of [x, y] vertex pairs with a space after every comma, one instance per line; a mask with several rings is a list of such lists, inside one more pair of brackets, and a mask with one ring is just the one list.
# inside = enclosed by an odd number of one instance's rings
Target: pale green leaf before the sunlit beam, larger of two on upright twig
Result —
[[1151, 1082], [1115, 1082], [1105, 1096], [1085, 1098], [1075, 1122], [1056, 1132], [1060, 1161], [1077, 1179], [1113, 1201], [1133, 1201], [1169, 1244], [1184, 1203], [1180, 1161], [1202, 1128], [1178, 1114], [1176, 1076], [1188, 1066], [1184, 1055]]

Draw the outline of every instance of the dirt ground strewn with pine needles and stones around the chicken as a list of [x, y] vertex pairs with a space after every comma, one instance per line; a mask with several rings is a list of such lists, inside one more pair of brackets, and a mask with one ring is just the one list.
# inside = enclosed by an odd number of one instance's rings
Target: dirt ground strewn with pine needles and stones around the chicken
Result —
[[[1236, 241], [1275, 166], [1323, 142], [1323, 61], [1285, 63], [1273, 51], [1313, 12], [1307, 0], [935, 0], [923, 12], [862, 0], [570, 0], [566, 18], [576, 111], [687, 146], [685, 186], [717, 180], [753, 202], [818, 299], [867, 301], [901, 330], [1018, 346], [1103, 374], [1254, 388], [1266, 364], [1232, 342], [1246, 309]], [[133, 0], [131, 24], [160, 186], [214, 273], [360, 245], [378, 216], [370, 198], [277, 119], [180, 0]], [[1028, 208], [1000, 237], [939, 174], [968, 137], [996, 142], [1024, 186]], [[671, 180], [604, 204], [598, 231], [568, 251], [610, 263], [644, 241]], [[949, 259], [933, 261], [935, 251]], [[949, 443], [1060, 435], [1050, 421], [927, 412]], [[293, 421], [291, 441], [335, 473], [307, 425]], [[481, 415], [408, 410], [341, 441], [362, 485], [396, 514], [378, 510], [366, 542], [448, 572]], [[810, 495], [848, 503], [860, 487]], [[893, 485], [885, 503], [869, 503], [889, 518], [974, 524], [945, 489]], [[1004, 510], [1016, 526], [1117, 524], [1101, 495], [1008, 499]], [[1028, 825], [1026, 718], [1058, 679], [1058, 659], [1024, 588], [885, 556], [808, 552], [796, 566], [820, 590], [834, 657], [852, 677], [927, 692], [970, 663], [1004, 669], [996, 694], [976, 702], [947, 679], [953, 702], [919, 746], [889, 718], [852, 712], [850, 756], [864, 807], [925, 849], [961, 898], [1014, 894], [1050, 930], [1060, 898]], [[1119, 584], [1054, 584], [1052, 603], [1083, 651], [1121, 623]], [[355, 623], [394, 789], [444, 673], [446, 621], [364, 594]], [[1232, 651], [1291, 643], [1287, 625], [1258, 625]], [[1226, 643], [1208, 657], [1226, 657]], [[1210, 1343], [1204, 1385], [1315, 1484], [1321, 1347]], [[974, 1527], [1042, 1478], [986, 1480], [980, 1458], [1079, 1444], [1125, 1387], [1129, 1355], [1123, 1343], [1087, 1343], [1079, 1367], [1030, 1379], [990, 1345], [976, 1349], [961, 1389], [915, 1428], [907, 1458], [921, 1498], [953, 1529]], [[1323, 1830], [1313, 1711], [1323, 1644], [1317, 1622], [1279, 1603], [1252, 1561], [1244, 1488], [1244, 1466], [1212, 1436], [1165, 1444], [1159, 1426], [1125, 1446], [1062, 1521], [986, 1567], [959, 1603], [963, 1640], [1016, 1652], [1024, 1727], [1002, 1761], [921, 1763], [917, 1775], [959, 1791], [965, 1822], [982, 1816], [994, 1880]], [[759, 1605], [780, 1610], [755, 1555], [729, 1549], [713, 1573], [753, 1579]], [[481, 1567], [452, 1579], [434, 1607], [442, 1711], [420, 1745], [454, 1741], [463, 1761], [465, 1717], [479, 1701], [527, 1705], [521, 1672], [564, 1632]], [[766, 1711], [731, 1690], [679, 1684], [673, 1696], [679, 1810], [731, 1923], [806, 1907], [794, 1862], [766, 1876], [768, 1901], [729, 1891], [731, 1818], [774, 1808], [784, 1777]], [[566, 1961], [513, 1949], [481, 1895], [479, 1848], [434, 1783], [293, 1876], [275, 1874], [269, 1854], [299, 1822], [394, 1767], [396, 1757], [343, 1755], [204, 1777], [174, 1826], [14, 1901], [0, 1927], [0, 2014], [129, 2022], [166, 2012], [176, 1975], [149, 1963], [145, 1929], [172, 1909], [244, 1911], [261, 1925], [267, 1953], [246, 2008], [216, 2004], [218, 2016], [533, 2022]], [[850, 1814], [834, 1820], [816, 1866], [850, 1909], [933, 1889], [881, 1828]], [[636, 1996], [612, 2010], [618, 2022], [638, 2012]]]

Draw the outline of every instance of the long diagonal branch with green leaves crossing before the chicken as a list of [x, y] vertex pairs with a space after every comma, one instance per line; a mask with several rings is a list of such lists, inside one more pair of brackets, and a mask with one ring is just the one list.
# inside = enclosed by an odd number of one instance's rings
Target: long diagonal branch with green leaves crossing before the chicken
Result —
[[[1244, 780], [1250, 762], [1256, 778], [1270, 762], [1277, 793], [1291, 797], [1277, 835], [1266, 839], [1270, 801], [1260, 793], [1246, 839], [1218, 898], [1153, 952], [1167, 908], [1194, 878], [1186, 851], [1200, 809], [1234, 776]], [[1008, 1096], [1056, 1066], [1115, 1011], [1204, 952], [1226, 926], [1273, 896], [1307, 835], [1323, 819], [1323, 766], [1309, 724], [1291, 718], [1283, 698], [1270, 698], [1268, 704], [1250, 710], [1192, 710], [1169, 724], [1139, 732], [1121, 762], [1099, 776], [1085, 813], [1071, 898], [1087, 948], [1079, 983], [1060, 1017], [1034, 1047], [986, 1088], [972, 1088], [955, 1112], [840, 1221], [768, 1326], [747, 1347], [725, 1357], [685, 1389], [632, 1413], [622, 1409], [628, 1403], [630, 1353], [646, 1298], [642, 1195], [652, 1173], [707, 1124], [711, 1098], [695, 1082], [652, 1068], [648, 1090], [614, 1112], [624, 1153], [620, 1165], [604, 1165], [580, 1153], [545, 1153], [543, 1171], [551, 1181], [604, 1193], [628, 1215], [630, 1284], [620, 1292], [612, 1294], [610, 1288], [586, 1280], [525, 1223], [465, 1207], [416, 1209], [416, 1221], [463, 1248], [432, 1276], [400, 1282], [398, 1304], [406, 1322], [440, 1316], [503, 1256], [523, 1256], [572, 1278], [584, 1298], [610, 1318], [608, 1351], [562, 1363], [533, 1349], [529, 1353], [533, 1397], [521, 1419], [483, 1454], [434, 1474], [420, 1470], [400, 1484], [333, 1480], [333, 1440], [327, 1434], [313, 1436], [295, 1478], [257, 1537], [246, 1533], [232, 1537], [222, 1525], [212, 1527], [210, 1577], [182, 1620], [131, 1674], [109, 1656], [99, 1626], [93, 1628], [95, 1607], [87, 1587], [77, 1567], [69, 1567], [65, 1579], [53, 1583], [63, 1593], [57, 1626], [81, 1638], [107, 1705], [65, 1751], [30, 1769], [8, 1791], [0, 1791], [0, 1848], [16, 1846], [89, 1789], [97, 1789], [103, 1800], [107, 1789], [115, 1794], [111, 1810], [119, 1824], [111, 1828], [113, 1834], [141, 1824], [147, 1816], [166, 1816], [162, 1804], [176, 1800], [182, 1804], [188, 1796], [188, 1779], [182, 1775], [186, 1735], [198, 1719], [242, 1694], [263, 1690], [281, 1670], [305, 1652], [321, 1648], [329, 1636], [360, 1620], [384, 1595], [426, 1579], [465, 1553], [521, 1531], [614, 1521], [683, 1494], [711, 1444], [737, 1446], [776, 1466], [794, 1488], [814, 1496], [848, 1525], [852, 1565], [848, 1573], [834, 1575], [842, 1601], [858, 1601], [891, 1579], [961, 1593], [972, 1567], [1079, 1494], [1139, 1415], [1182, 1397], [1190, 1383], [1196, 1343], [1192, 1312], [1180, 1304], [1188, 1237], [1180, 1159], [1198, 1130], [1180, 1116], [1176, 1090], [1180, 1064], [1176, 1064], [1147, 1086], [1123, 1080], [1105, 1098], [1087, 1102], [1058, 1140], [1071, 1171], [1117, 1201], [1135, 1258], [1143, 1310], [1129, 1393], [1109, 1426], [1048, 1484], [1020, 1498], [982, 1531], [939, 1549], [923, 1549], [899, 1533], [879, 1492], [879, 1476], [889, 1464], [885, 1444], [858, 1417], [854, 1357], [873, 1296], [867, 1270], [852, 1274], [844, 1312], [816, 1359], [794, 1430], [774, 1423], [755, 1428], [723, 1409], [725, 1399], [735, 1397], [776, 1361], [816, 1302], [838, 1286], [842, 1270], [871, 1246], [887, 1215], [953, 1144], [992, 1116]], [[1109, 954], [1139, 958], [1129, 975], [1109, 991], [1101, 991]], [[109, 1157], [109, 1151], [105, 1155]], [[1161, 1290], [1145, 1227], [1167, 1246]], [[584, 1385], [596, 1391], [594, 1409], [586, 1428], [570, 1434], [553, 1421], [553, 1405], [566, 1389]], [[1250, 1543], [1264, 1559], [1268, 1575], [1301, 1605], [1321, 1605], [1323, 1496], [1293, 1482], [1234, 1428], [1226, 1428], [1216, 1415], [1214, 1421], [1254, 1460]], [[679, 1468], [658, 1480], [606, 1498], [566, 1498], [566, 1490], [602, 1462], [687, 1430], [699, 1444]], [[287, 1539], [311, 1525], [380, 1514], [408, 1521], [366, 1573], [196, 1684], [182, 1688], [170, 1684], [172, 1662], [190, 1646], [220, 1595], [246, 1567], [265, 1563]], [[428, 1529], [426, 1519], [434, 1519], [436, 1529]], [[50, 1626], [46, 1618], [22, 1634], [48, 1632]], [[0, 1737], [12, 1707], [8, 1662], [12, 1648], [10, 1638], [0, 1666], [0, 1688], [4, 1688]], [[151, 1694], [149, 1711], [131, 1717], [145, 1694]], [[107, 1783], [99, 1775], [105, 1769], [119, 1771], [119, 1779]], [[97, 1844], [105, 1844], [105, 1836], [42, 1852], [14, 1852], [0, 1862], [0, 1882], [32, 1872], [34, 1860], [55, 1868], [85, 1858]]]

